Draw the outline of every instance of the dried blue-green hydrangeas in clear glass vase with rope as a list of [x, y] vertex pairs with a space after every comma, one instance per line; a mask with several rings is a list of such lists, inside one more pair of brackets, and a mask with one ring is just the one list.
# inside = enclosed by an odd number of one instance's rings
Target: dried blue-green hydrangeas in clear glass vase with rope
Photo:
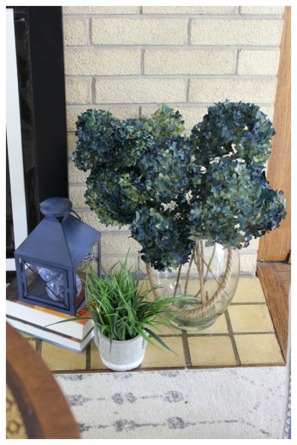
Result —
[[173, 322], [196, 330], [226, 310], [238, 251], [279, 227], [286, 204], [265, 178], [275, 132], [258, 106], [219, 102], [189, 136], [184, 129], [167, 105], [123, 121], [87, 110], [77, 121], [73, 161], [90, 171], [87, 204], [101, 223], [130, 226], [151, 286], [189, 297]]

